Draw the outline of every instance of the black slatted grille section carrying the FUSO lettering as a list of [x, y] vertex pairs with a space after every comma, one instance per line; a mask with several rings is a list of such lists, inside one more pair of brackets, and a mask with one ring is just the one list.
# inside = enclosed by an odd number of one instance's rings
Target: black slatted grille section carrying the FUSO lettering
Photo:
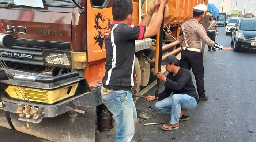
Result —
[[[44, 65], [43, 62], [43, 51], [41, 48], [38, 47], [25, 47], [20, 45], [14, 45], [12, 48], [4, 48], [3, 46], [0, 46], [0, 51], [2, 52], [2, 57], [0, 57], [1, 60], [4, 61], [10, 61], [10, 62], [17, 62], [17, 63], [23, 63], [23, 64], [31, 64], [31, 65]], [[17, 58], [14, 56], [6, 56], [3, 54], [5, 53], [19, 53], [19, 54], [28, 54], [32, 55], [33, 59], [29, 58]]]

